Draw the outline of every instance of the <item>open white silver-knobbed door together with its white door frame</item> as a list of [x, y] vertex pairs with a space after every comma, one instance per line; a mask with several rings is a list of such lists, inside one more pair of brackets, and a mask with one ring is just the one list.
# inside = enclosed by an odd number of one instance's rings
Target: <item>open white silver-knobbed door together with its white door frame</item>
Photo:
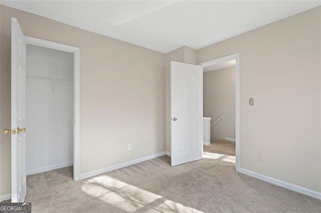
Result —
[[[239, 171], [239, 53], [198, 65], [171, 61], [171, 165], [203, 157], [203, 69], [235, 60], [235, 163]], [[217, 118], [217, 122], [222, 116]], [[209, 130], [209, 129], [208, 129]]]

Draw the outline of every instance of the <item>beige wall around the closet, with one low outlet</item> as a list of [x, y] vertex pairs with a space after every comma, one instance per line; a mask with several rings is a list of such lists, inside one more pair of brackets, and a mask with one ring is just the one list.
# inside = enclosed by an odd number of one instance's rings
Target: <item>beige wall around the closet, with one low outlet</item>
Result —
[[[165, 151], [165, 54], [0, 8], [1, 132], [11, 126], [11, 17], [16, 17], [26, 35], [80, 47], [81, 173]], [[0, 137], [4, 195], [11, 192], [11, 146], [10, 135]]]

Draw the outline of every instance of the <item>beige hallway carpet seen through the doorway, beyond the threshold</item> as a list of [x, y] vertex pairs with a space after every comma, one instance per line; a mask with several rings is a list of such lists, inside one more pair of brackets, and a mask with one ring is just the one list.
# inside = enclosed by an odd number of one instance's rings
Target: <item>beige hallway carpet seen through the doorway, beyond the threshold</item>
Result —
[[219, 140], [203, 147], [205, 152], [235, 156], [235, 142], [233, 141]]

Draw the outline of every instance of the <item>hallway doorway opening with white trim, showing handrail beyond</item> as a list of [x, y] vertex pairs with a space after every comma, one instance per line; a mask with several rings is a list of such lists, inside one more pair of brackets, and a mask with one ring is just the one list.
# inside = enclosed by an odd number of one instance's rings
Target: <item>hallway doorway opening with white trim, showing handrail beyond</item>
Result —
[[203, 129], [205, 131], [203, 136], [206, 141], [203, 142], [203, 157], [235, 163], [238, 170], [240, 165], [239, 53], [199, 65], [204, 71]]

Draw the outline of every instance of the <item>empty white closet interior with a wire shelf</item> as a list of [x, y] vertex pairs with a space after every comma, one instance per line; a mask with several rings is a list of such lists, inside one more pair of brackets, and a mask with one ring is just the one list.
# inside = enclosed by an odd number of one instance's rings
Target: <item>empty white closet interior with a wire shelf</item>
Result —
[[27, 45], [27, 175], [73, 164], [73, 53]]

